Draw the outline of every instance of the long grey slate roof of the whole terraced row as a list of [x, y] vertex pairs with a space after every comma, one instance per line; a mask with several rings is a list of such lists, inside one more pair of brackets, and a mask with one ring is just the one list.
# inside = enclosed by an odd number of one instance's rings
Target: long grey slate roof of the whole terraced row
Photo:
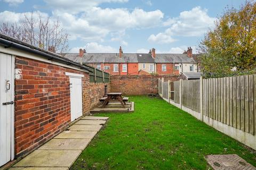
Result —
[[[80, 62], [78, 53], [65, 54], [69, 60]], [[148, 53], [85, 53], [83, 63], [194, 63], [186, 54], [156, 54], [156, 58]]]

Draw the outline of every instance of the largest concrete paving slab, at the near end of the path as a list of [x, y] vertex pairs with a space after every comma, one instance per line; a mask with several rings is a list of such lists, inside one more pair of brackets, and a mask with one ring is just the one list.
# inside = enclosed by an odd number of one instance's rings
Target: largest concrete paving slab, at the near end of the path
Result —
[[82, 150], [35, 150], [13, 167], [70, 167]]

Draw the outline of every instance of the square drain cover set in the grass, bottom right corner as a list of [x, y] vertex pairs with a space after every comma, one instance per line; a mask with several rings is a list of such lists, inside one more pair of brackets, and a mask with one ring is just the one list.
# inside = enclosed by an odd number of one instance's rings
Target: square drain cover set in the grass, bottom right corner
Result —
[[247, 163], [238, 155], [208, 155], [205, 157], [207, 163], [214, 170], [256, 170], [254, 166]]

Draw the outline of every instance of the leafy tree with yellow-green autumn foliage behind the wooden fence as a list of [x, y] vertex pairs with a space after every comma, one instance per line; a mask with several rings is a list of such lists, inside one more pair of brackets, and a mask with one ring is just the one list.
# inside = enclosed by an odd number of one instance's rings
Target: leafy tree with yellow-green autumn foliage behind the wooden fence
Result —
[[226, 8], [199, 44], [198, 64], [204, 77], [256, 72], [256, 2]]

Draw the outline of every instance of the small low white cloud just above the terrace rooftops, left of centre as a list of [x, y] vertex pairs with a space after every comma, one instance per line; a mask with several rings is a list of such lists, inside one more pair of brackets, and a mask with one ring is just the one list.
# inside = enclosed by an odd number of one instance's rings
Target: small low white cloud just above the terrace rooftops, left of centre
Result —
[[79, 53], [79, 49], [86, 49], [87, 53], [117, 53], [119, 50], [111, 46], [103, 46], [98, 43], [87, 43], [84, 47], [74, 47], [69, 53]]

